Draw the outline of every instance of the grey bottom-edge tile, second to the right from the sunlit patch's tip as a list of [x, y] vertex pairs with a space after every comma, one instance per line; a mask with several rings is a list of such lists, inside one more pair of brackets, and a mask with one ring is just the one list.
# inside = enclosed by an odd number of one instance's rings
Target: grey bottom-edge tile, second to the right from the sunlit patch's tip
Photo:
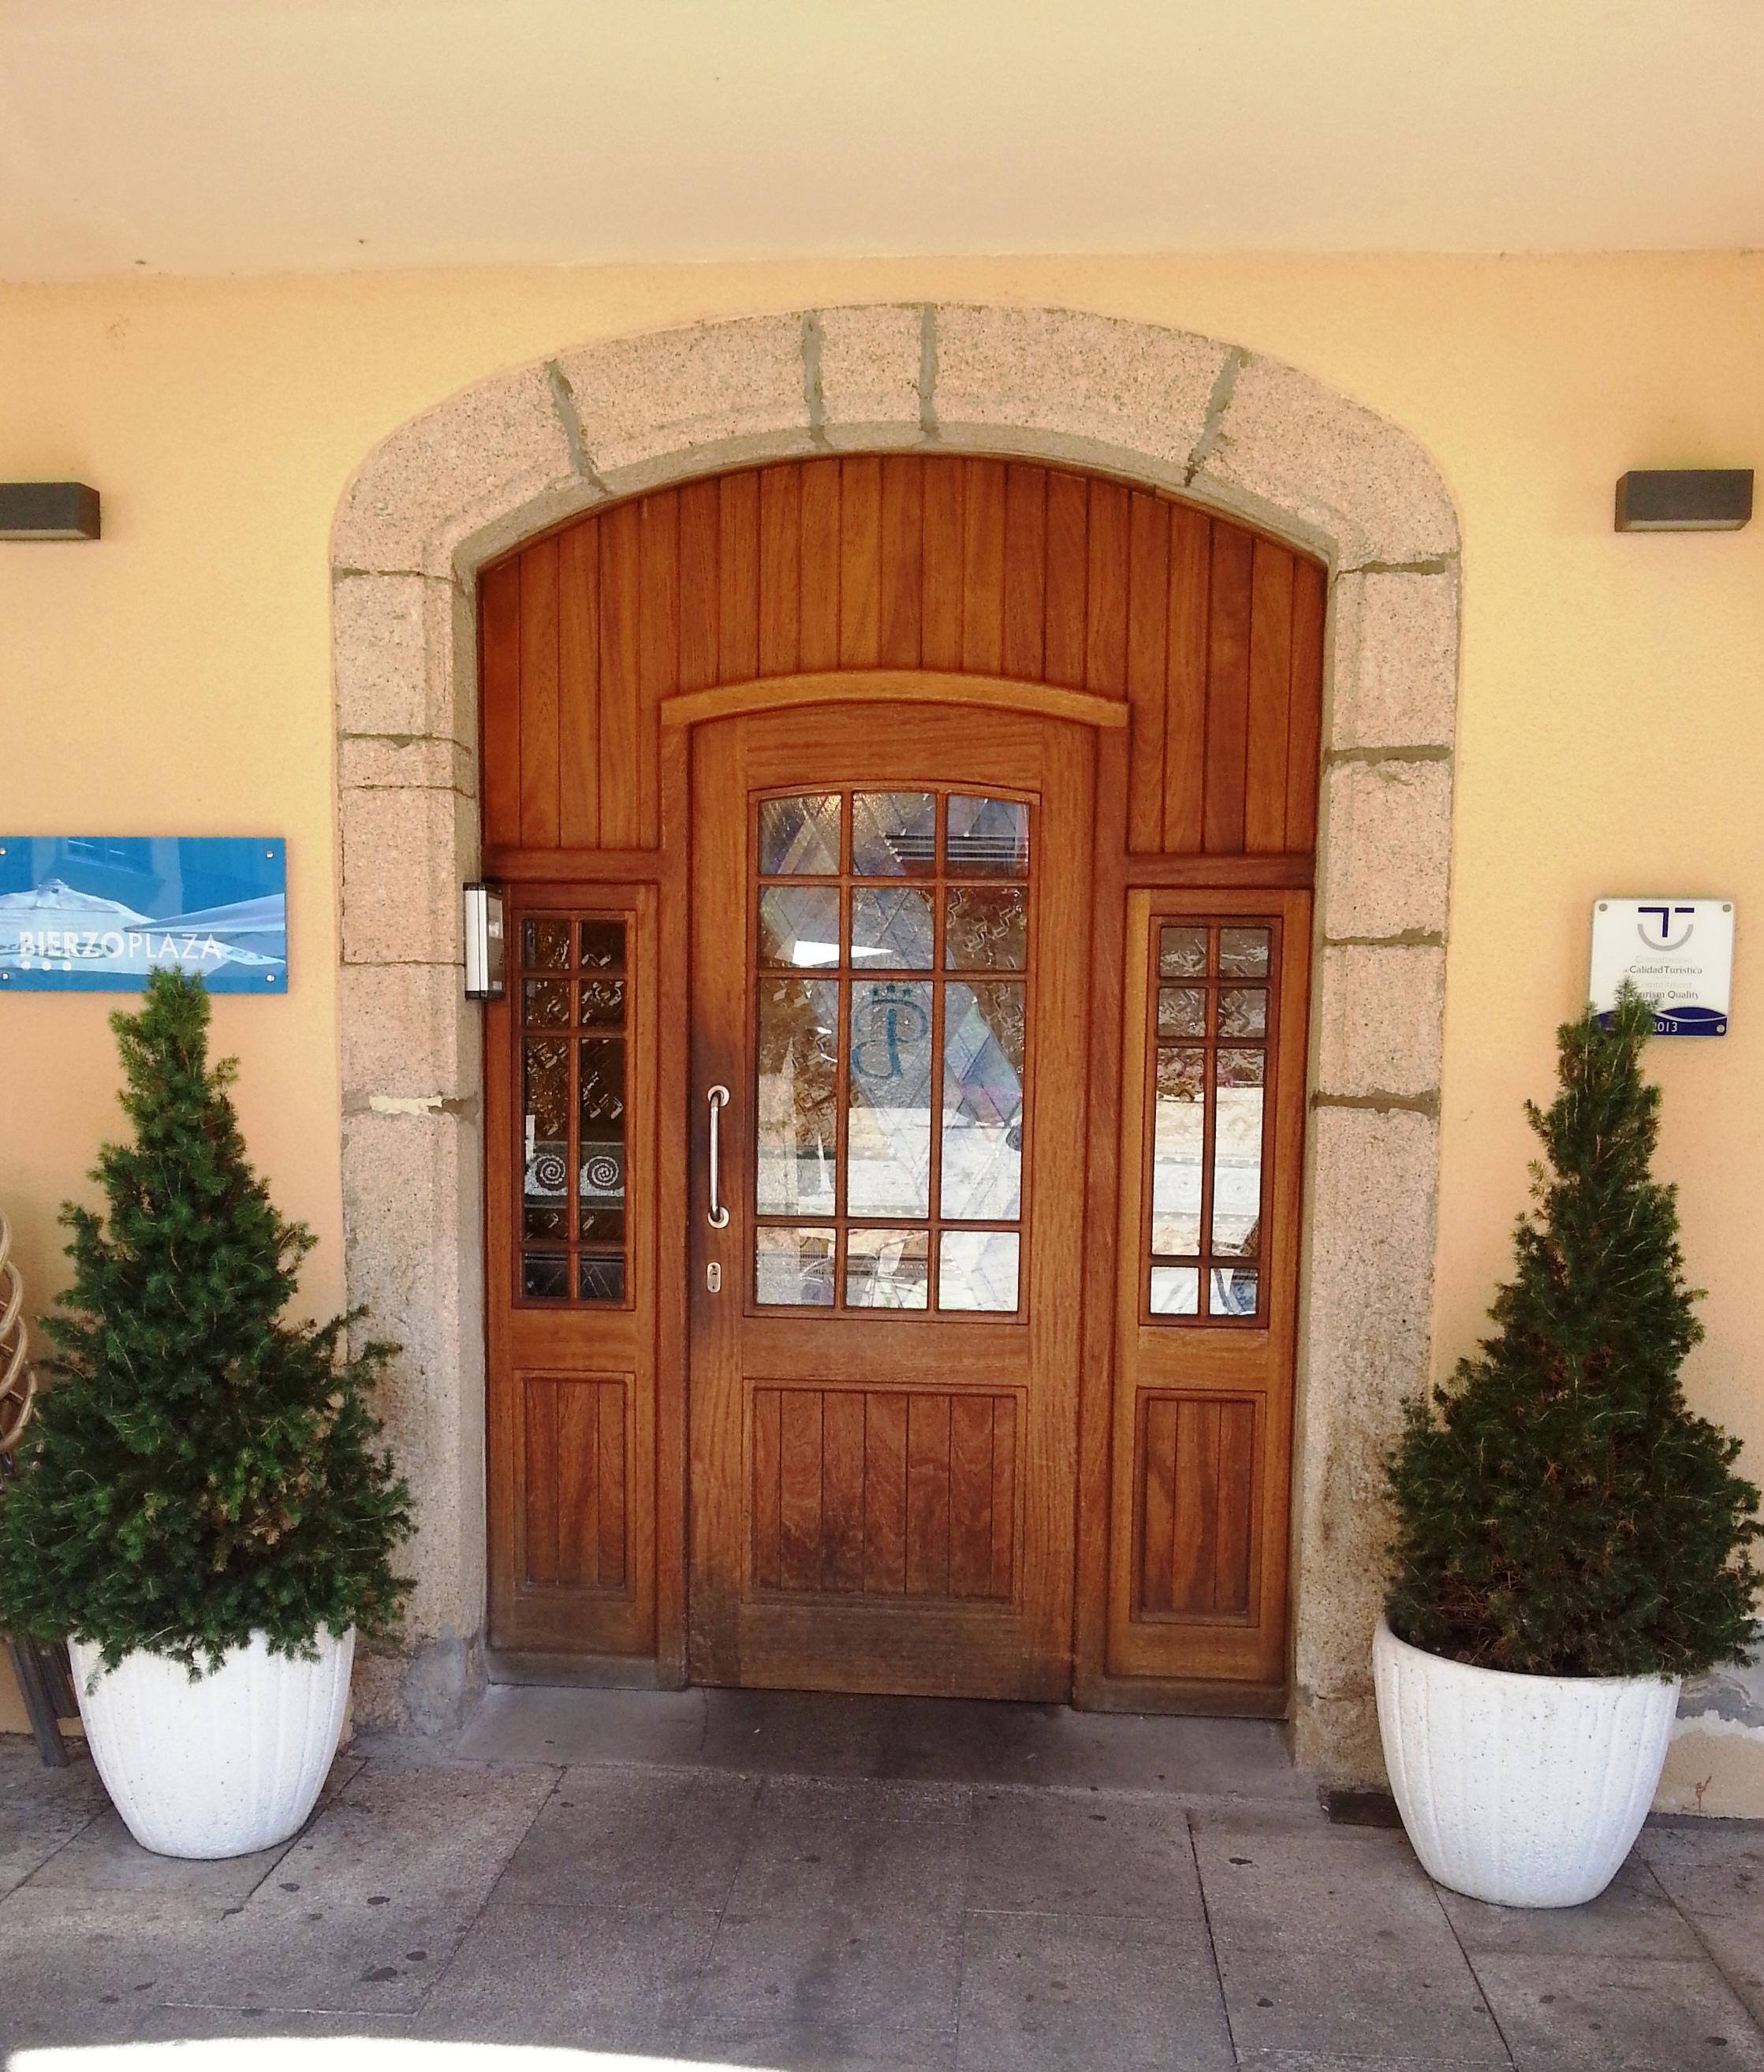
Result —
[[1213, 1958], [1157, 1921], [966, 1919], [960, 2072], [1231, 2072]]

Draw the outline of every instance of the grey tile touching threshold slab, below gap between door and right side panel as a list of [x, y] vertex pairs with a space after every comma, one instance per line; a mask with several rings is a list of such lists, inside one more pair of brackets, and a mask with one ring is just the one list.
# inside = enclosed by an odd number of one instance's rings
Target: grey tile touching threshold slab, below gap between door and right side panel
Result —
[[1103, 1792], [976, 1792], [968, 1906], [1136, 1915], [1204, 1933], [1182, 1807]]

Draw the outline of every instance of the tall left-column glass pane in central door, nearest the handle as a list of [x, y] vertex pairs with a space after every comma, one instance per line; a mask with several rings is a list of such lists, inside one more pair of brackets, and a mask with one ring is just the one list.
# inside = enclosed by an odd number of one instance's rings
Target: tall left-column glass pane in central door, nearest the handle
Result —
[[761, 1216], [831, 1216], [840, 1146], [837, 980], [759, 982], [755, 1121], [755, 1206]]

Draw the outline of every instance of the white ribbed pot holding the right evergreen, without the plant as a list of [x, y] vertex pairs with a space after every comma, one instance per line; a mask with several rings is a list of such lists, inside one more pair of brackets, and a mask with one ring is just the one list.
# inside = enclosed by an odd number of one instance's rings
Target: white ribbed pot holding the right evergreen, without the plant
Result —
[[1428, 1877], [1497, 1906], [1580, 1906], [1629, 1854], [1667, 1761], [1677, 1678], [1513, 1676], [1378, 1620], [1378, 1732]]

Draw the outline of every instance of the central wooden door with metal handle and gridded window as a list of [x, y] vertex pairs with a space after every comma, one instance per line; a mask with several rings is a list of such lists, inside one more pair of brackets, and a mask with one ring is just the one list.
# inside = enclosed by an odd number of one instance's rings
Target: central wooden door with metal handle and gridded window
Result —
[[692, 1676], [1063, 1697], [1090, 733], [819, 707], [690, 783]]

